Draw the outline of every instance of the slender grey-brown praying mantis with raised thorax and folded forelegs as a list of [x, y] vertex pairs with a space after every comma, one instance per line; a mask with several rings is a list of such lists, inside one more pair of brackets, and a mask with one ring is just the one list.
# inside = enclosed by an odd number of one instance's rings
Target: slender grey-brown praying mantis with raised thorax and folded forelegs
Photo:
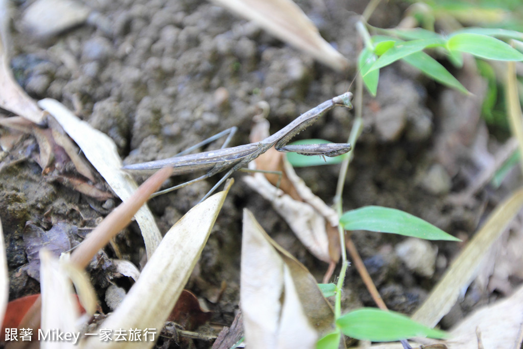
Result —
[[[237, 147], [224, 148], [229, 143], [236, 128], [231, 128], [220, 132], [210, 139], [200, 142], [189, 149], [170, 157], [169, 159], [156, 160], [138, 164], [131, 164], [123, 166], [123, 170], [132, 173], [144, 174], [147, 172], [154, 172], [166, 166], [173, 166], [173, 175], [180, 175], [192, 173], [195, 171], [207, 171], [206, 174], [192, 179], [191, 181], [181, 183], [177, 186], [161, 190], [154, 193], [152, 197], [172, 192], [173, 190], [183, 188], [190, 184], [202, 181], [217, 173], [228, 170], [225, 175], [215, 184], [209, 193], [207, 193], [201, 201], [207, 199], [218, 188], [225, 179], [229, 178], [234, 171], [246, 166], [249, 162], [256, 159], [261, 154], [265, 153], [273, 145], [276, 150], [280, 152], [296, 152], [302, 155], [322, 155], [322, 156], [338, 156], [345, 154], [351, 150], [349, 143], [327, 143], [327, 144], [288, 144], [289, 141], [304, 129], [311, 126], [317, 119], [322, 117], [325, 112], [331, 110], [336, 106], [352, 108], [350, 100], [352, 94], [346, 92], [342, 95], [326, 100], [322, 104], [304, 112], [299, 117], [295, 118], [289, 125], [283, 127], [278, 132], [271, 136], [255, 143], [238, 145]], [[229, 133], [229, 137], [224, 142], [224, 147], [218, 150], [211, 150], [196, 154], [187, 154], [189, 151], [200, 147], [214, 139], [224, 136]], [[200, 201], [200, 202], [201, 202]]]

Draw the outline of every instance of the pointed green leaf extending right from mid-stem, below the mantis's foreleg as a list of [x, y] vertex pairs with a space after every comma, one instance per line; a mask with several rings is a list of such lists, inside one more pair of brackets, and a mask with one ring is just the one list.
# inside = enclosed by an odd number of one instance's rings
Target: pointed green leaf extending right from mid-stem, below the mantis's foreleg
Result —
[[389, 207], [365, 206], [347, 211], [339, 222], [346, 230], [394, 233], [425, 240], [461, 241], [421, 218]]

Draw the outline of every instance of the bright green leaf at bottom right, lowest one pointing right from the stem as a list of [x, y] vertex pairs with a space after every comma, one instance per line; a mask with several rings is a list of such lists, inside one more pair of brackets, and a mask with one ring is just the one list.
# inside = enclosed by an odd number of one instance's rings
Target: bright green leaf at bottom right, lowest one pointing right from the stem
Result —
[[444, 331], [434, 330], [393, 311], [362, 308], [336, 320], [342, 332], [359, 340], [392, 342], [412, 337], [445, 338]]

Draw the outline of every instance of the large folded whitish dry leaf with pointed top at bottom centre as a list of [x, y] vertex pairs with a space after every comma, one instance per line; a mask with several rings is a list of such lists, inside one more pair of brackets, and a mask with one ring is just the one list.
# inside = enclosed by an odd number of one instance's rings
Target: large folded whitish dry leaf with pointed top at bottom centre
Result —
[[[309, 271], [243, 215], [241, 308], [252, 348], [314, 348], [334, 329], [334, 313]], [[292, 343], [292, 344], [291, 344]]]

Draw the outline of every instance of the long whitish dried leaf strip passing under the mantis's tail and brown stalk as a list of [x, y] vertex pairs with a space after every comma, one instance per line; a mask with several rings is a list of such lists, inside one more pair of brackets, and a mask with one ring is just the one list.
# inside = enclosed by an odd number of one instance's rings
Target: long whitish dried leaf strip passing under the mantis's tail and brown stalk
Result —
[[[115, 142], [105, 133], [78, 119], [60, 102], [46, 98], [38, 103], [60, 123], [65, 132], [78, 144], [87, 160], [105, 178], [116, 195], [122, 201], [127, 200], [138, 186], [129, 174], [121, 170], [122, 161], [116, 150]], [[142, 231], [147, 256], [150, 257], [162, 240], [162, 235], [146, 205], [142, 206], [134, 217]]]

